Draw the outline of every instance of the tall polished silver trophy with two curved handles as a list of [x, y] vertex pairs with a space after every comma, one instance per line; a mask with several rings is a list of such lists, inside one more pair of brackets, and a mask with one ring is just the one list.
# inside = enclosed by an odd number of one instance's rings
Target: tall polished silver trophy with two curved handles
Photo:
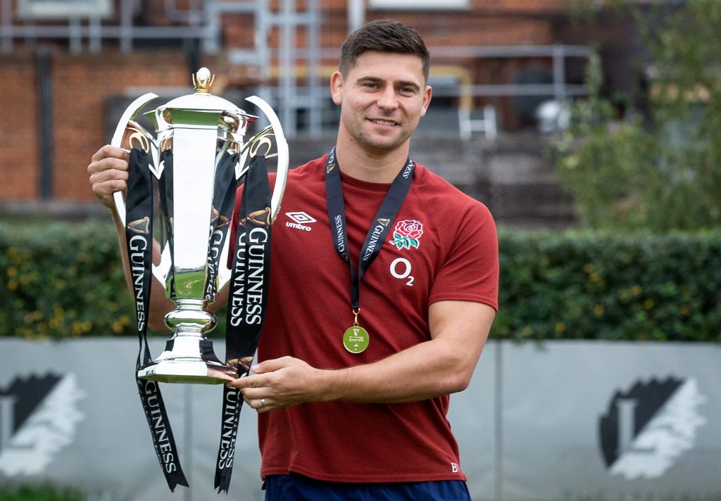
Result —
[[[210, 71], [200, 68], [193, 75], [194, 94], [177, 97], [144, 113], [154, 122], [156, 135], [133, 119], [158, 96], [149, 93], [138, 97], [123, 113], [112, 137], [112, 146], [146, 151], [151, 157], [151, 172], [157, 179], [163, 175], [164, 152], [172, 151], [172, 234], [154, 231], [162, 257], [159, 265], [153, 266], [152, 274], [175, 304], [174, 311], [165, 316], [173, 336], [172, 342], [167, 343], [171, 349], [166, 348], [152, 363], [141, 367], [139, 378], [167, 383], [214, 384], [236, 377], [236, 369], [219, 362], [212, 354], [212, 347], [211, 356], [208, 356], [210, 341], [205, 337], [205, 332], [216, 324], [216, 317], [207, 309], [215, 297], [207, 297], [205, 282], [209, 272], [209, 228], [218, 217], [213, 206], [218, 159], [224, 154], [237, 154], [236, 179], [245, 174], [253, 156], [261, 154], [266, 159], [277, 160], [271, 220], [278, 214], [286, 187], [288, 143], [278, 116], [260, 97], [248, 97], [246, 100], [265, 114], [270, 125], [244, 141], [249, 125], [258, 117], [211, 94], [212, 82]], [[158, 205], [162, 212], [164, 200]], [[120, 221], [125, 223], [122, 192], [115, 193], [115, 208]], [[156, 233], [163, 234], [164, 238], [159, 239]], [[224, 288], [230, 279], [227, 266], [229, 241], [230, 238], [225, 239], [218, 270], [213, 270], [217, 281], [215, 291]]]

